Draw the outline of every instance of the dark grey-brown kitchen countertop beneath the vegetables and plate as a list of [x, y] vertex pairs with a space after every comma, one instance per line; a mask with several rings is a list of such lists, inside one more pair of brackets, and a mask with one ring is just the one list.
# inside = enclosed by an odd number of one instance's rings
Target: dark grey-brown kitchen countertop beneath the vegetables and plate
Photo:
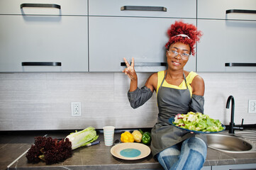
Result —
[[[72, 157], [59, 164], [46, 165], [44, 162], [28, 164], [24, 154], [34, 142], [35, 136], [63, 138], [69, 132], [4, 132], [0, 133], [0, 169], [162, 169], [150, 154], [143, 159], [128, 161], [113, 157], [110, 149], [104, 145], [104, 137], [99, 130], [99, 145], [82, 147], [73, 151]], [[121, 132], [116, 132], [115, 140], [120, 140]], [[22, 156], [21, 156], [22, 155]], [[16, 160], [18, 159], [18, 160]], [[204, 166], [227, 164], [256, 164], [256, 152], [233, 154], [208, 148]]]

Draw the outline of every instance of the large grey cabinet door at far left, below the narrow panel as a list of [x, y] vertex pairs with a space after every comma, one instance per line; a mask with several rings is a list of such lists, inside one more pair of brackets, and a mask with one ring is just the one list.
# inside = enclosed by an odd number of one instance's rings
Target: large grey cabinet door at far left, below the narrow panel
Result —
[[87, 17], [4, 15], [0, 23], [0, 72], [88, 71]]

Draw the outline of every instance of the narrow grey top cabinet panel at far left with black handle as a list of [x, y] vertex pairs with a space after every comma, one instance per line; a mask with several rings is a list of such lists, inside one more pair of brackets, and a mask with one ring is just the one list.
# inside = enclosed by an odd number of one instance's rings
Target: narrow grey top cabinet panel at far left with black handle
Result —
[[87, 0], [1, 0], [0, 14], [87, 16]]

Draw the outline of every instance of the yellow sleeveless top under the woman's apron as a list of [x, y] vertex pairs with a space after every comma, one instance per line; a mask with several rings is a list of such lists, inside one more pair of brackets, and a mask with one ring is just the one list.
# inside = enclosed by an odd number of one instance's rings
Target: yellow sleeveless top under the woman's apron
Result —
[[[186, 77], [187, 80], [187, 86], [189, 88], [189, 92], [190, 92], [190, 96], [192, 96], [192, 88], [191, 88], [191, 82], [193, 81], [194, 77], [196, 77], [198, 74], [196, 74], [195, 72], [189, 72], [189, 74]], [[159, 87], [162, 84], [162, 79], [164, 79], [165, 77], [165, 70], [161, 71], [161, 72], [157, 72], [157, 92]], [[186, 83], [183, 80], [181, 84], [179, 84], [179, 86], [176, 85], [172, 85], [172, 84], [168, 84], [167, 81], [164, 81], [162, 86], [164, 87], [169, 87], [169, 88], [173, 88], [173, 89], [187, 89]]]

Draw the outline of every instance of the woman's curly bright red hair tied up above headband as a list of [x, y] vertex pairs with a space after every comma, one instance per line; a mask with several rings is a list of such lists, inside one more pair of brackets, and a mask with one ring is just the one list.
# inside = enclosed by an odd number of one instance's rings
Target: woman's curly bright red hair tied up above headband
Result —
[[[172, 24], [172, 26], [167, 31], [167, 34], [169, 35], [169, 41], [165, 45], [167, 50], [169, 49], [169, 45], [171, 45], [172, 43], [182, 42], [189, 45], [192, 55], [195, 55], [194, 45], [200, 40], [201, 36], [203, 35], [200, 30], [197, 30], [196, 26], [190, 23], [183, 23], [182, 21], [175, 21], [175, 23]], [[189, 38], [183, 36], [176, 36], [179, 34], [187, 35], [189, 36]]]

